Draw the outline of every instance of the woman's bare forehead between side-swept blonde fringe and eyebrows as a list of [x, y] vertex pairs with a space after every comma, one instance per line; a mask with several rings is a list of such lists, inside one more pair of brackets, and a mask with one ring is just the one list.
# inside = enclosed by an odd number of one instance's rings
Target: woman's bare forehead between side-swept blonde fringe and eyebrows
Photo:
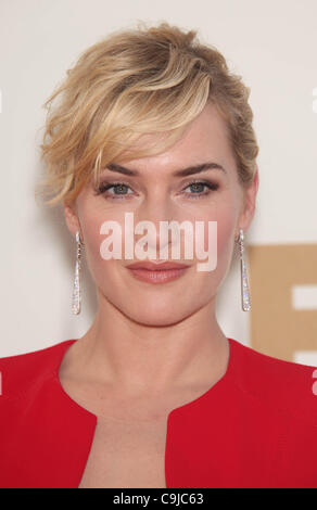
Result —
[[[155, 143], [155, 133], [142, 136], [137, 145], [143, 148], [149, 142]], [[162, 176], [164, 173], [169, 175], [178, 168], [208, 161], [231, 168], [231, 171], [234, 168], [226, 122], [211, 103], [187, 126], [181, 138], [165, 152], [117, 163], [142, 175], [152, 173], [154, 168], [160, 169]]]

